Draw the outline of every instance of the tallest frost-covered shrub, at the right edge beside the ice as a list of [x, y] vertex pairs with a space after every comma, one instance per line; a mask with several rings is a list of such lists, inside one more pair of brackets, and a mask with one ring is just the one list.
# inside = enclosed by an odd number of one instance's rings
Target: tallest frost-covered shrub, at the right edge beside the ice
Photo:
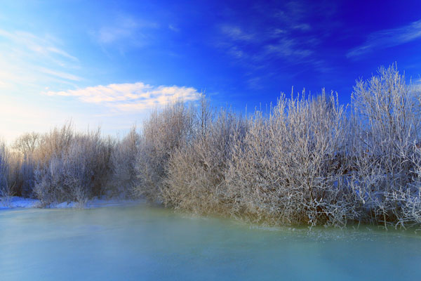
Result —
[[349, 150], [354, 153], [353, 188], [363, 201], [362, 220], [403, 226], [408, 209], [418, 206], [420, 212], [420, 97], [396, 65], [381, 67], [354, 87]]

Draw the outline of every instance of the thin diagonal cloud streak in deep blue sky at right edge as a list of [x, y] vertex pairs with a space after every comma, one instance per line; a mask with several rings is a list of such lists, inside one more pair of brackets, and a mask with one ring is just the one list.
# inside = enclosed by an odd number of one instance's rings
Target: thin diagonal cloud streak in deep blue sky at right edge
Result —
[[403, 27], [380, 30], [370, 34], [364, 44], [347, 53], [348, 58], [356, 58], [379, 48], [389, 48], [421, 39], [421, 20]]

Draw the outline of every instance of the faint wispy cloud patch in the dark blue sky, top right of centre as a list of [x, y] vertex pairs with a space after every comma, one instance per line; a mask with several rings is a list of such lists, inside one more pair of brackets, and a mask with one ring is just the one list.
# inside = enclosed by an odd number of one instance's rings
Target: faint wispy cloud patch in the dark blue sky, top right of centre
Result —
[[[250, 89], [258, 89], [271, 79], [264, 69], [304, 66], [302, 69], [328, 72], [331, 68], [320, 50], [333, 27], [332, 20], [327, 23], [323, 19], [336, 9], [330, 2], [292, 0], [260, 1], [241, 11], [228, 10], [225, 21], [216, 26], [213, 46], [227, 55], [227, 61], [246, 70], [244, 81]], [[323, 17], [314, 21], [314, 14], [319, 13]], [[279, 75], [279, 71], [271, 73]], [[286, 75], [291, 74], [282, 74]]]

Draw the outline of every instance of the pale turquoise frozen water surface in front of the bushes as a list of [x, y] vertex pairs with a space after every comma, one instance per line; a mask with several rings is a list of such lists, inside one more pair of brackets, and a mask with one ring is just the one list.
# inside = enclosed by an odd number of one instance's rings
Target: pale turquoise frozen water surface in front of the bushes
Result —
[[421, 234], [258, 228], [145, 204], [0, 211], [0, 280], [417, 280]]

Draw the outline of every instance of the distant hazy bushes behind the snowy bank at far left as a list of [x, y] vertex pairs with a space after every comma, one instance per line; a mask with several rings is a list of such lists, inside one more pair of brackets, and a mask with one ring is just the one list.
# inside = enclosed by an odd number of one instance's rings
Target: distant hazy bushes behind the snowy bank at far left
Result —
[[2, 186], [10, 193], [37, 197], [44, 206], [65, 201], [83, 205], [105, 191], [114, 142], [102, 138], [99, 129], [76, 133], [71, 124], [65, 124], [44, 135], [26, 133], [11, 149], [1, 151], [6, 151], [1, 154], [7, 157], [2, 174], [8, 175], [3, 176], [7, 185]]

